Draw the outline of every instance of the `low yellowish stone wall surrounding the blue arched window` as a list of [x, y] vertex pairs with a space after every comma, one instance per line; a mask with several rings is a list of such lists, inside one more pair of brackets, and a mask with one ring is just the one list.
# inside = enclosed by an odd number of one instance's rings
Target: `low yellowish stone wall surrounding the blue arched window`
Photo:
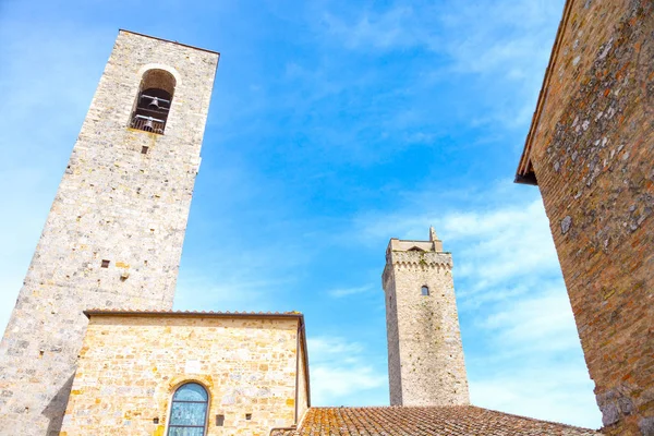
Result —
[[162, 436], [171, 396], [186, 382], [209, 392], [208, 436], [268, 436], [272, 427], [289, 427], [298, 323], [92, 315], [61, 436]]

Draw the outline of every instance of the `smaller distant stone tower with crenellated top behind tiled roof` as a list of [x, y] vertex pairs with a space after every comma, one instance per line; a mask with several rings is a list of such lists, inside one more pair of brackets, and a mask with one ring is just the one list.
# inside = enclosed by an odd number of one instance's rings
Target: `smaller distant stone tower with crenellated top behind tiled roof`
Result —
[[390, 240], [382, 281], [390, 404], [470, 403], [452, 255], [433, 228], [429, 241]]

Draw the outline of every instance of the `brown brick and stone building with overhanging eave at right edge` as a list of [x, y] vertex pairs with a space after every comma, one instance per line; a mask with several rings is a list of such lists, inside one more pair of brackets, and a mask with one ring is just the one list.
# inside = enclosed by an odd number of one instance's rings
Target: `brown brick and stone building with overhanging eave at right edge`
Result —
[[566, 2], [517, 182], [541, 190], [603, 431], [654, 435], [654, 2]]

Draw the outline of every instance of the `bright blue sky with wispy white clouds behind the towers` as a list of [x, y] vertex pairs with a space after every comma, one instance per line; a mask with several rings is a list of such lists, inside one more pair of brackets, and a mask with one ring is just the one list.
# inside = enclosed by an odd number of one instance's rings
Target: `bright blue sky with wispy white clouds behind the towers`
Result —
[[177, 308], [306, 315], [313, 402], [387, 404], [390, 238], [453, 253], [473, 403], [601, 426], [512, 177], [562, 0], [0, 2], [0, 324], [118, 28], [221, 52]]

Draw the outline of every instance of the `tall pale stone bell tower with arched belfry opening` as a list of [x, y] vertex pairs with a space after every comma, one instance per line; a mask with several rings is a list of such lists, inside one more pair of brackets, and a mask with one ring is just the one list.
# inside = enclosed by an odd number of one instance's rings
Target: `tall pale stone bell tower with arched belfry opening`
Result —
[[83, 310], [172, 307], [218, 58], [119, 33], [0, 344], [0, 434], [59, 434]]

